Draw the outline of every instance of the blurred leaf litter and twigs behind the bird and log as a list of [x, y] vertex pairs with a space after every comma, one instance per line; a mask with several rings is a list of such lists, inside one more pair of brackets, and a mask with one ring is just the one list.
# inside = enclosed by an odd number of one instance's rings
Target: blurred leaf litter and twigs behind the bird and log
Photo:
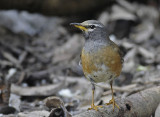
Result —
[[[116, 97], [160, 85], [159, 0], [1, 0], [0, 117], [58, 117], [90, 107], [91, 85], [79, 66], [85, 40], [69, 25], [90, 19], [106, 25], [124, 53]], [[109, 84], [100, 85], [96, 104], [111, 99]]]

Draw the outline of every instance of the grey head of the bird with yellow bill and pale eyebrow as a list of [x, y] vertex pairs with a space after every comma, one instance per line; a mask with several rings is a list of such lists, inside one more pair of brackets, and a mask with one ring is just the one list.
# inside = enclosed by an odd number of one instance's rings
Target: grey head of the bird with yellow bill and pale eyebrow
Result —
[[99, 37], [106, 37], [107, 35], [105, 26], [96, 20], [87, 20], [82, 23], [71, 23], [71, 25], [81, 29], [86, 39], [99, 39]]

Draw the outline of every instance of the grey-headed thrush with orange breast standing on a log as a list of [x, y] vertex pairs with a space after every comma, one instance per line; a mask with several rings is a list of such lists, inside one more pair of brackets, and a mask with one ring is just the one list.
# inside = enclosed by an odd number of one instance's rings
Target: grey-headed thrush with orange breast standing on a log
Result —
[[83, 73], [92, 84], [92, 104], [89, 110], [98, 111], [99, 107], [94, 104], [95, 84], [99, 82], [109, 82], [112, 99], [107, 105], [113, 105], [120, 109], [116, 104], [112, 83], [117, 78], [123, 65], [123, 54], [117, 44], [109, 38], [106, 26], [97, 20], [87, 20], [82, 23], [70, 23], [79, 28], [84, 35], [85, 44], [81, 51], [81, 64]]

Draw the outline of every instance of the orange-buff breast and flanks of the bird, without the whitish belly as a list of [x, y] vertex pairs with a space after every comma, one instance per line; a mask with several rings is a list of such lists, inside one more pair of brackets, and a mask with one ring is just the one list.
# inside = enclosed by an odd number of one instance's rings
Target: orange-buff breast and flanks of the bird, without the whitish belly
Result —
[[113, 43], [113, 46], [103, 46], [99, 50], [89, 53], [82, 49], [81, 61], [84, 74], [91, 74], [102, 70], [101, 66], [105, 65], [107, 70], [112, 72], [116, 77], [122, 70], [121, 56], [118, 53], [119, 48]]

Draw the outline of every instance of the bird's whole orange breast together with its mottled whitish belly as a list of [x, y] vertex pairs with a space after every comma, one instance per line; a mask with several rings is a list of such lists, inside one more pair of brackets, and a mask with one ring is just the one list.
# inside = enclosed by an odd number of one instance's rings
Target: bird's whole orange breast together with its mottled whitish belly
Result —
[[116, 46], [102, 46], [92, 52], [83, 48], [81, 61], [86, 78], [104, 82], [119, 76], [122, 64], [118, 50]]

